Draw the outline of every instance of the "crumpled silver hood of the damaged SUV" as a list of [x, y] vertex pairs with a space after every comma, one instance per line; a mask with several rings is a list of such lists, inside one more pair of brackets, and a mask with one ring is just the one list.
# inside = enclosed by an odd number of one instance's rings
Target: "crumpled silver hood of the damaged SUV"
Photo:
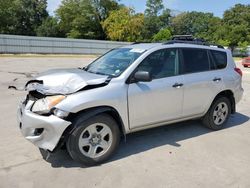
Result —
[[82, 69], [54, 69], [39, 74], [27, 82], [26, 90], [45, 95], [72, 94], [86, 86], [104, 84], [108, 76], [92, 74]]

